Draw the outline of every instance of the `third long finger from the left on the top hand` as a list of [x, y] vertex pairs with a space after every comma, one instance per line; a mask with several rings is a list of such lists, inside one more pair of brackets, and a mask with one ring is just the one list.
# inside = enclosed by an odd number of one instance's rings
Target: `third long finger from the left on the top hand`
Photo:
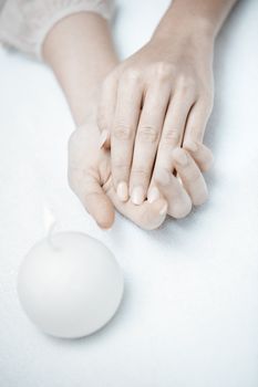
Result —
[[[157, 171], [163, 169], [173, 170], [172, 150], [180, 146], [187, 115], [193, 106], [194, 92], [189, 91], [183, 94], [177, 91], [167, 109], [166, 118], [163, 126], [162, 137], [158, 145], [157, 157], [153, 171], [153, 178], [158, 175]], [[153, 187], [153, 182], [151, 184]], [[155, 189], [155, 187], [154, 187]], [[149, 190], [152, 196], [152, 190]]]

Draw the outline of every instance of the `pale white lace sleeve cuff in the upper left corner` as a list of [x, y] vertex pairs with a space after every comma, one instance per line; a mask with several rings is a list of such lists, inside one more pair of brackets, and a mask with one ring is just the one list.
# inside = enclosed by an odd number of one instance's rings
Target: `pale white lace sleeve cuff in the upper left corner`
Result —
[[41, 46], [50, 29], [62, 18], [96, 12], [110, 19], [112, 0], [0, 0], [0, 41], [41, 59]]

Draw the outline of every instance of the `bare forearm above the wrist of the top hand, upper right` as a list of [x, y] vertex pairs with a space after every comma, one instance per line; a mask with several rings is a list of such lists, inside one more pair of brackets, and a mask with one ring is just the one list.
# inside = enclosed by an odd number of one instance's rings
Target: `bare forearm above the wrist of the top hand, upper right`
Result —
[[[174, 0], [154, 35], [185, 35], [214, 40], [237, 0]], [[173, 36], [172, 36], [173, 38]]]

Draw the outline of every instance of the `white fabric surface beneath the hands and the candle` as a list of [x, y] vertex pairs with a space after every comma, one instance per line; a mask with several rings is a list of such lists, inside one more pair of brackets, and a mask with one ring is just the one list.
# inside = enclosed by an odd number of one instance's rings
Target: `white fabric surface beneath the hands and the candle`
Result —
[[[122, 56], [145, 42], [167, 3], [120, 1]], [[53, 75], [0, 50], [1, 387], [258, 386], [257, 14], [257, 0], [241, 1], [217, 41], [210, 199], [152, 232], [121, 216], [111, 231], [97, 229], [68, 187], [73, 124]], [[99, 238], [125, 273], [118, 314], [84, 339], [44, 336], [18, 302], [18, 266], [45, 234], [44, 203], [58, 231]]]

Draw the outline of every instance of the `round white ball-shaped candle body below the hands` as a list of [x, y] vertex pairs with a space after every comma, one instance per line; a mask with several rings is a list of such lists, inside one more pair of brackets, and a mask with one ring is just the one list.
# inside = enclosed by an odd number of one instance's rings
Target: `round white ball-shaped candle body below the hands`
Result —
[[43, 332], [75, 338], [90, 335], [115, 314], [123, 274], [111, 251], [80, 232], [60, 232], [38, 242], [18, 274], [18, 294]]

